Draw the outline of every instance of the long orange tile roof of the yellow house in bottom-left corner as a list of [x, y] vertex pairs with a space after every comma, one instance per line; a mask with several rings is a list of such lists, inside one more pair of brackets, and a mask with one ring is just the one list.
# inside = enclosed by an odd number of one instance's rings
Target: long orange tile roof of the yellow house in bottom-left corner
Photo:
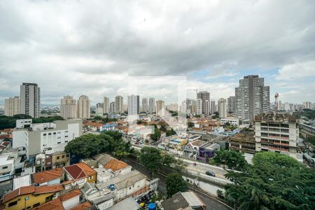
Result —
[[11, 191], [10, 193], [6, 193], [3, 195], [3, 203], [8, 202], [9, 200], [13, 200], [15, 197], [20, 195], [27, 195], [27, 194], [43, 194], [43, 193], [55, 193], [64, 190], [62, 185], [52, 185], [52, 186], [25, 186], [18, 188], [16, 190]]

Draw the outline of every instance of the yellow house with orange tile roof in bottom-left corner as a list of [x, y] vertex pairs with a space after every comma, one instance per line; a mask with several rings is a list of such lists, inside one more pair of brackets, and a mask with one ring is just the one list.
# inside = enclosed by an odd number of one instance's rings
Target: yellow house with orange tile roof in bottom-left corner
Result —
[[54, 195], [64, 190], [62, 185], [25, 186], [3, 195], [3, 209], [31, 209], [52, 200]]

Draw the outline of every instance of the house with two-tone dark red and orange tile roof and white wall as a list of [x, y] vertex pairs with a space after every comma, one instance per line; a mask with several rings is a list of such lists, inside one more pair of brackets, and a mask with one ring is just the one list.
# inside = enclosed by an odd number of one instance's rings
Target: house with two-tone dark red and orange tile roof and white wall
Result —
[[64, 167], [64, 172], [66, 172], [66, 179], [68, 181], [62, 184], [66, 189], [76, 185], [82, 187], [85, 182], [96, 183], [97, 181], [97, 172], [85, 162]]

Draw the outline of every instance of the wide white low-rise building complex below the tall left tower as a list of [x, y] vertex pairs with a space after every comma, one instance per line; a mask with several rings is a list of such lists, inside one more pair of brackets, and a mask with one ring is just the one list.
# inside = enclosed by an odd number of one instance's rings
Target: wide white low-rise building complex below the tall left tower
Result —
[[31, 119], [17, 120], [13, 147], [24, 147], [27, 158], [46, 151], [63, 151], [66, 144], [82, 135], [82, 120], [56, 120], [31, 124]]

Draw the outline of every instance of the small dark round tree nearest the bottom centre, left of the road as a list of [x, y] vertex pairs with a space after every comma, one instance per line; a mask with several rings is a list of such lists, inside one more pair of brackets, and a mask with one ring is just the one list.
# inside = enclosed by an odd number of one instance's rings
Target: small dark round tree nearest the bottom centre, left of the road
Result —
[[188, 190], [188, 183], [180, 174], [171, 173], [167, 175], [165, 183], [167, 186], [167, 197], [172, 197], [175, 193]]

